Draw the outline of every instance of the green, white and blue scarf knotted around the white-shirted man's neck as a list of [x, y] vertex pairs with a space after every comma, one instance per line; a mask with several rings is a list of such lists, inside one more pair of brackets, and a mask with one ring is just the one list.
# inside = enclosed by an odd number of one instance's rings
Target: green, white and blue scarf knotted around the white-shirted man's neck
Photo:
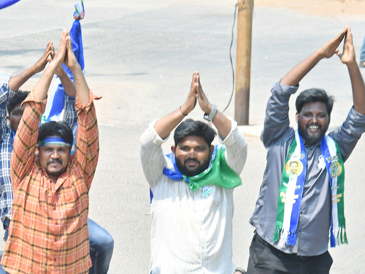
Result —
[[208, 186], [209, 184], [215, 184], [216, 186], [224, 187], [226, 189], [233, 189], [234, 187], [240, 186], [242, 184], [242, 180], [236, 172], [227, 165], [226, 158], [224, 157], [225, 151], [225, 145], [220, 144], [214, 146], [209, 167], [195, 176], [185, 176], [182, 174], [176, 166], [174, 154], [170, 153], [166, 156], [174, 165], [175, 171], [165, 167], [164, 175], [176, 181], [185, 180], [189, 183], [189, 188], [193, 191], [200, 189], [202, 186]]

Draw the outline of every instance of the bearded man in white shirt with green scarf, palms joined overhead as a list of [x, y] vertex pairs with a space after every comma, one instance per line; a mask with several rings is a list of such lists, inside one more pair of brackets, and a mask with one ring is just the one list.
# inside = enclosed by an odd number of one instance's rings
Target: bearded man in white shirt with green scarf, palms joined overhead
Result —
[[[187, 119], [177, 126], [196, 102], [218, 129], [221, 144], [211, 145], [216, 133], [203, 122]], [[161, 144], [176, 126], [172, 153], [164, 156]], [[151, 273], [234, 273], [233, 189], [241, 184], [247, 142], [237, 122], [208, 101], [199, 73], [180, 109], [142, 134], [140, 156], [153, 192]]]

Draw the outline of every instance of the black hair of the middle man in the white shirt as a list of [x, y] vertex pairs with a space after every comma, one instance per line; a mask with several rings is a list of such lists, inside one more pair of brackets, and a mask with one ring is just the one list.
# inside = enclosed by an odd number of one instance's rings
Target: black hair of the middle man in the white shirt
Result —
[[215, 135], [216, 133], [214, 129], [212, 129], [206, 123], [187, 119], [175, 129], [174, 141], [175, 145], [177, 145], [187, 136], [198, 136], [203, 138], [208, 146], [210, 146], [214, 140]]

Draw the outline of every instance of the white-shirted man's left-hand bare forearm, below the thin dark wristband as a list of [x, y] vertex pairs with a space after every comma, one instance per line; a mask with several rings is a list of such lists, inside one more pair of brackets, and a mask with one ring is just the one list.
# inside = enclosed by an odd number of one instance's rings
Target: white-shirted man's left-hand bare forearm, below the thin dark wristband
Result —
[[181, 121], [183, 121], [185, 117], [185, 115], [183, 114], [184, 111], [186, 111], [184, 109], [184, 106], [181, 106], [181, 111], [179, 108], [177, 110], [174, 110], [172, 113], [157, 120], [157, 122], [155, 123], [155, 130], [162, 139], [165, 139], [167, 136], [169, 136], [172, 130], [176, 128], [176, 126]]

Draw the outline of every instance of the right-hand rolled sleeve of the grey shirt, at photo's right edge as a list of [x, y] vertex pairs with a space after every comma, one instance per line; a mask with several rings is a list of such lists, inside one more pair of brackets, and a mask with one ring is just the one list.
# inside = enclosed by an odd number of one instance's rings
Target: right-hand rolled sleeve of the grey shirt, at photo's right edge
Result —
[[328, 136], [337, 142], [343, 161], [346, 161], [364, 132], [365, 115], [351, 107], [346, 120]]

